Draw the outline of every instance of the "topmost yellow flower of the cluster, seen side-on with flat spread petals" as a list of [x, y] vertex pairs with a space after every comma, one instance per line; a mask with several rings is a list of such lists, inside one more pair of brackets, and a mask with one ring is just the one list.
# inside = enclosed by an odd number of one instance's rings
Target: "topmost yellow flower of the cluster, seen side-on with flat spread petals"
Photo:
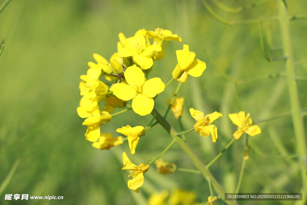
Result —
[[155, 31], [147, 31], [146, 36], [148, 38], [154, 38], [154, 41], [179, 41], [181, 42], [181, 37], [177, 34], [173, 34], [170, 30], [156, 28]]

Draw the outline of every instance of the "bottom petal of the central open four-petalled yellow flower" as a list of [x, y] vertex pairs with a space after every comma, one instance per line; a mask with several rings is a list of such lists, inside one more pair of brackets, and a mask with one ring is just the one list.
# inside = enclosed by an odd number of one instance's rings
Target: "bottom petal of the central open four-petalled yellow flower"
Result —
[[132, 101], [132, 109], [135, 113], [144, 116], [153, 110], [154, 101], [151, 97], [139, 93]]

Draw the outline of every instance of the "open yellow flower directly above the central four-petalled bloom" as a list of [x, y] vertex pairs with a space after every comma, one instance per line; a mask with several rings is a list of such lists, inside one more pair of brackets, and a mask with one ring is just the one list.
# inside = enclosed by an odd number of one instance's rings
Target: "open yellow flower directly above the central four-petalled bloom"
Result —
[[146, 44], [145, 37], [140, 34], [127, 38], [125, 46], [119, 51], [119, 56], [132, 56], [133, 61], [142, 69], [149, 69], [153, 65], [153, 53], [162, 49], [160, 45]]

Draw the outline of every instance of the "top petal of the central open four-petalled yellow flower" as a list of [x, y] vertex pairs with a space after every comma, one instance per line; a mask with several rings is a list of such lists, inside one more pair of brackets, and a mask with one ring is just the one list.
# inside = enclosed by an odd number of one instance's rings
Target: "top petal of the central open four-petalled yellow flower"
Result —
[[136, 65], [128, 67], [125, 71], [125, 79], [129, 85], [141, 87], [145, 82], [143, 71]]

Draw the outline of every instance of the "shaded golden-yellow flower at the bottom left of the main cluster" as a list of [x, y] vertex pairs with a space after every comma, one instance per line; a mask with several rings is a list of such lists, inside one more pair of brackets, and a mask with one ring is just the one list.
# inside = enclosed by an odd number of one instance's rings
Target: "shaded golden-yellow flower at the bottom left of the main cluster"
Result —
[[122, 140], [122, 136], [112, 137], [111, 133], [101, 133], [99, 136], [99, 140], [97, 142], [93, 142], [92, 146], [97, 149], [110, 149], [111, 147], [115, 147], [117, 145], [121, 145], [124, 143]]

